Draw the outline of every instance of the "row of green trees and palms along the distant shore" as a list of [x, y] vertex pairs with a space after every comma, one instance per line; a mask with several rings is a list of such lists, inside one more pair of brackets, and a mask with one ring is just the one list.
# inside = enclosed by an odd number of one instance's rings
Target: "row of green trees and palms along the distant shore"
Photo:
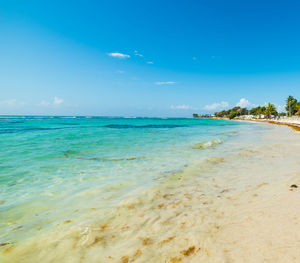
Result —
[[289, 96], [286, 99], [285, 109], [286, 112], [279, 113], [274, 104], [268, 103], [268, 105], [266, 106], [257, 106], [252, 109], [236, 106], [229, 110], [215, 112], [214, 115], [216, 117], [226, 117], [229, 119], [233, 119], [242, 115], [259, 116], [259, 118], [261, 118], [262, 116], [266, 118], [271, 118], [272, 116], [300, 116], [300, 101], [297, 101], [297, 99], [293, 96]]

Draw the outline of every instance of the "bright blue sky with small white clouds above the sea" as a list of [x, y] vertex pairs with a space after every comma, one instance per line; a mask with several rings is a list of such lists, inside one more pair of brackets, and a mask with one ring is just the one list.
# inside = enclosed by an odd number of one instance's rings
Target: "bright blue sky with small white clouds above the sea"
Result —
[[298, 1], [0, 0], [0, 114], [191, 116], [300, 99]]

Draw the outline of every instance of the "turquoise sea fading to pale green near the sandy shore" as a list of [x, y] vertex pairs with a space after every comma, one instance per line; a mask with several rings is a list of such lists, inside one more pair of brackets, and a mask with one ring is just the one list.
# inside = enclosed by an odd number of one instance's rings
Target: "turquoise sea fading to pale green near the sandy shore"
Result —
[[252, 126], [207, 119], [1, 117], [0, 240], [105, 217], [128, 195], [221, 153]]

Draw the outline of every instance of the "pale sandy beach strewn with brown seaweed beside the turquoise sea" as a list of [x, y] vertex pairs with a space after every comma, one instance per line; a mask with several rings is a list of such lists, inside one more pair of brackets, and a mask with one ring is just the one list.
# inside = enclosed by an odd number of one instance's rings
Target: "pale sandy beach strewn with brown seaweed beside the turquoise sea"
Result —
[[298, 262], [300, 136], [270, 127], [263, 144], [194, 163], [104, 221], [8, 247], [2, 262]]

